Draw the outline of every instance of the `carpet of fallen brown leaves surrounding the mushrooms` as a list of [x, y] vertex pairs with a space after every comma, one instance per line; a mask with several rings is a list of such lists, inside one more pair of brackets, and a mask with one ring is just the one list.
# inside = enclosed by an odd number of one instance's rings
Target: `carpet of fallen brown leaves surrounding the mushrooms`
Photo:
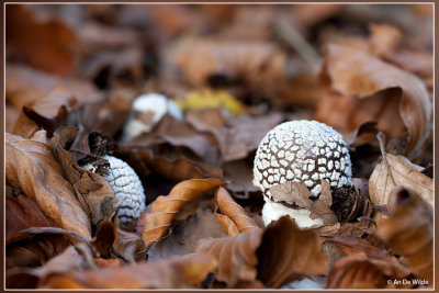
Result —
[[[432, 289], [432, 31], [426, 3], [8, 4], [5, 288]], [[351, 184], [273, 185], [323, 225], [266, 226], [255, 154], [296, 120]]]

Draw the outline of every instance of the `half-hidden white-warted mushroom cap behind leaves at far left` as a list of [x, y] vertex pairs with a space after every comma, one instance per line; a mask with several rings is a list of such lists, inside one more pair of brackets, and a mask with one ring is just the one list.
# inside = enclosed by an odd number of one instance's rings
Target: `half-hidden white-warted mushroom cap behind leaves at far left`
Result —
[[[137, 221], [145, 210], [145, 192], [142, 181], [125, 161], [109, 155], [103, 156], [102, 159], [110, 162], [110, 168], [103, 178], [113, 188], [114, 196], [123, 201], [117, 210], [117, 216], [121, 226], [126, 227]], [[93, 164], [87, 164], [81, 168], [92, 172], [98, 171], [98, 166]]]

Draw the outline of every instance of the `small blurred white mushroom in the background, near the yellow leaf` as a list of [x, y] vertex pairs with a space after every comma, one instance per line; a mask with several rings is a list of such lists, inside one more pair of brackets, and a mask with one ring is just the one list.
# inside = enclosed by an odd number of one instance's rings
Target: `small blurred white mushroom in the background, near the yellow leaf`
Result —
[[[151, 123], [148, 125], [136, 119], [137, 112], [153, 113]], [[183, 113], [178, 105], [165, 95], [159, 93], [147, 93], [138, 97], [133, 102], [133, 112], [124, 125], [121, 143], [127, 143], [137, 135], [144, 132], [149, 132], [166, 113], [170, 114], [175, 119], [183, 120]]]

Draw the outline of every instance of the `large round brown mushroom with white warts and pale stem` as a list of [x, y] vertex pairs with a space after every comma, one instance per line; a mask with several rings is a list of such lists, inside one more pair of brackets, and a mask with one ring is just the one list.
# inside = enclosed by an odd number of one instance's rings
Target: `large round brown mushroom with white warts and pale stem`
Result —
[[[284, 182], [303, 182], [309, 200], [320, 195], [320, 180], [331, 188], [351, 183], [349, 149], [341, 135], [317, 121], [290, 121], [275, 126], [261, 140], [255, 157], [254, 184], [262, 190], [262, 219], [270, 224], [283, 215], [299, 227], [322, 226], [322, 218], [311, 218], [311, 211], [275, 202], [270, 188]], [[297, 209], [295, 209], [297, 207]]]

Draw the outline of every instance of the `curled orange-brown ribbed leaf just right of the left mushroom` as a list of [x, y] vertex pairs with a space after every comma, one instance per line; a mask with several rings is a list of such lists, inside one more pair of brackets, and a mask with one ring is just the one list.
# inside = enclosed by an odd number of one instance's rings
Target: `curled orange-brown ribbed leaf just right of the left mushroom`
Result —
[[145, 227], [142, 239], [146, 249], [164, 237], [172, 223], [175, 215], [189, 202], [202, 193], [224, 184], [219, 179], [193, 179], [180, 182], [166, 196], [158, 196], [151, 213], [145, 215]]

